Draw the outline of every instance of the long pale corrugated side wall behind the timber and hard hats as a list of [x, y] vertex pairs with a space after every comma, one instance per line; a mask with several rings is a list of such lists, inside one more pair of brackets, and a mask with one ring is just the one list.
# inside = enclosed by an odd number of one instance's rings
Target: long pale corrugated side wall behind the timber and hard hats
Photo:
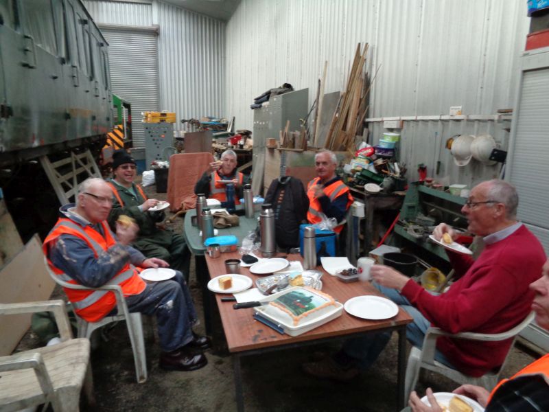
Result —
[[[529, 19], [522, 0], [242, 0], [226, 28], [226, 109], [237, 128], [251, 128], [249, 104], [267, 89], [290, 82], [309, 87], [328, 60], [325, 93], [342, 90], [357, 43], [369, 43], [369, 72], [380, 67], [368, 117], [493, 115], [511, 108], [519, 52]], [[371, 124], [373, 142], [384, 129]], [[401, 160], [417, 178], [441, 161], [443, 183], [474, 184], [498, 176], [499, 165], [454, 165], [443, 148], [457, 133], [491, 133], [506, 148], [509, 122], [405, 122]]]

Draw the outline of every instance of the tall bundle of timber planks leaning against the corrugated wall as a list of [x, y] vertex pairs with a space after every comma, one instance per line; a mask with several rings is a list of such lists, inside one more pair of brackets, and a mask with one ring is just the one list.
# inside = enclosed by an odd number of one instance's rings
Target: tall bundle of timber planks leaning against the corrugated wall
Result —
[[334, 117], [331, 119], [324, 148], [335, 151], [353, 150], [355, 135], [362, 134], [362, 122], [368, 111], [369, 87], [364, 62], [368, 43], [358, 43], [353, 65], [347, 79], [347, 88], [342, 93]]

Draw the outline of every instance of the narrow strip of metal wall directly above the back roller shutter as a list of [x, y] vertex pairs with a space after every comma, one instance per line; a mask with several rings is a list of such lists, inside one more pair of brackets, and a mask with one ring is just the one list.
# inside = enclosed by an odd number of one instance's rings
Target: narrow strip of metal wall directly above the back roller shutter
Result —
[[96, 23], [152, 25], [152, 4], [97, 0], [83, 0], [83, 3]]

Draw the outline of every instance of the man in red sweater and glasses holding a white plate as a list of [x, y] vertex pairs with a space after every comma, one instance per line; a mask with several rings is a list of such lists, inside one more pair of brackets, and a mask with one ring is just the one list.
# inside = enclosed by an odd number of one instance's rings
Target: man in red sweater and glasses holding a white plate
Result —
[[[513, 328], [530, 312], [534, 293], [528, 285], [539, 278], [546, 255], [541, 243], [516, 220], [518, 196], [511, 184], [500, 180], [480, 183], [471, 190], [462, 212], [468, 229], [484, 240], [476, 261], [448, 252], [458, 280], [446, 293], [434, 296], [394, 268], [371, 269], [377, 287], [413, 318], [406, 330], [412, 345], [421, 347], [425, 331], [436, 326], [450, 333], [498, 333]], [[442, 223], [433, 231], [440, 240], [452, 238], [454, 229]], [[369, 367], [382, 352], [390, 334], [346, 341], [338, 353], [304, 365], [317, 377], [348, 380]], [[500, 366], [512, 340], [500, 342], [440, 338], [436, 360], [470, 376], [482, 376]]]

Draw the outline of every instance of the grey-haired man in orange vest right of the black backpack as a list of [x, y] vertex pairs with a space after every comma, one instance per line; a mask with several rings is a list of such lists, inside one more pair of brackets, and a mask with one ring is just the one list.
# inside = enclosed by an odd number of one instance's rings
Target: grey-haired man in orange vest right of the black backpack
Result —
[[[349, 187], [336, 175], [337, 165], [338, 159], [335, 153], [329, 150], [320, 150], [314, 157], [317, 177], [307, 185], [309, 198], [307, 221], [309, 223], [320, 222], [321, 213], [328, 218], [336, 218], [339, 223], [344, 220], [347, 210], [353, 204], [354, 199]], [[342, 229], [341, 225], [335, 227], [334, 231], [340, 233]]]

